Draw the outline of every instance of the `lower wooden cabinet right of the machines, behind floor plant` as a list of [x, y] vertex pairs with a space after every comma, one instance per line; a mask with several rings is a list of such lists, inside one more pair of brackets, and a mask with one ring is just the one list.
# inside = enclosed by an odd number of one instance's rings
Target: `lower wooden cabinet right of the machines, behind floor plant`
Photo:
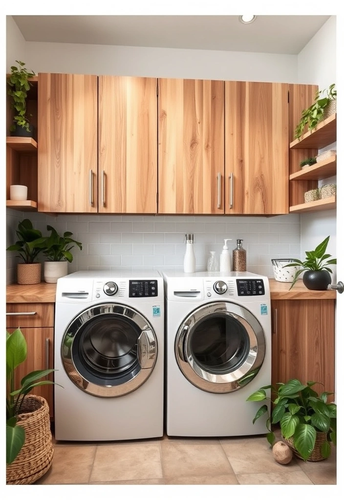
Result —
[[334, 391], [334, 304], [271, 300], [272, 384], [298, 378], [323, 384], [314, 385], [317, 391]]

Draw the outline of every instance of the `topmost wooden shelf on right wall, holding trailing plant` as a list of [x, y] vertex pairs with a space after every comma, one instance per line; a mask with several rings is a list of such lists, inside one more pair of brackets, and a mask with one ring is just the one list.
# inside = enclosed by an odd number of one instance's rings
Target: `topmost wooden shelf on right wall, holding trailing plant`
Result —
[[327, 146], [337, 139], [337, 115], [331, 114], [317, 124], [316, 128], [301, 135], [300, 139], [290, 142], [290, 149], [317, 148]]

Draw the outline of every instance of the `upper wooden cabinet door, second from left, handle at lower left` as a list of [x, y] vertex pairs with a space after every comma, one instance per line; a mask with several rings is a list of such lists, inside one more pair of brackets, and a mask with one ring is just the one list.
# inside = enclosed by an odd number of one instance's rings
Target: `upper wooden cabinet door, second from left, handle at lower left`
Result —
[[156, 78], [99, 76], [99, 212], [156, 213], [156, 85]]

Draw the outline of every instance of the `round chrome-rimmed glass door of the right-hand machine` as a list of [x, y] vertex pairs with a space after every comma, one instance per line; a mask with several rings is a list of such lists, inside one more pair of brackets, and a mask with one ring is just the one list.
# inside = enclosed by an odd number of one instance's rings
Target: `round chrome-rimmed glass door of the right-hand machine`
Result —
[[259, 321], [245, 307], [211, 302], [192, 311], [175, 338], [183, 375], [208, 392], [231, 392], [258, 373], [265, 355]]

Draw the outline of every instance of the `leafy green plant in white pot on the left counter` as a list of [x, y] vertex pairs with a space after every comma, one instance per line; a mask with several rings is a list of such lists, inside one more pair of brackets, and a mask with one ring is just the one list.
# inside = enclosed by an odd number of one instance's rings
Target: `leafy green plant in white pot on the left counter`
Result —
[[68, 273], [68, 262], [73, 260], [70, 250], [76, 245], [82, 250], [82, 244], [71, 238], [72, 232], [65, 231], [59, 235], [51, 225], [46, 226], [50, 235], [45, 238], [43, 254], [47, 258], [44, 262], [44, 280], [47, 283], [56, 283], [57, 279]]

